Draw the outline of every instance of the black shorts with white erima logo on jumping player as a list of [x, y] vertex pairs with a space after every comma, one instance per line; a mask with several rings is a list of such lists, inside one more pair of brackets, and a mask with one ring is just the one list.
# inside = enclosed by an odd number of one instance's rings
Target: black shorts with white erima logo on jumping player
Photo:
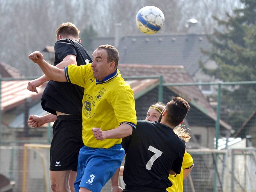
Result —
[[77, 170], [82, 139], [81, 116], [59, 115], [54, 122], [53, 138], [50, 150], [50, 171]]

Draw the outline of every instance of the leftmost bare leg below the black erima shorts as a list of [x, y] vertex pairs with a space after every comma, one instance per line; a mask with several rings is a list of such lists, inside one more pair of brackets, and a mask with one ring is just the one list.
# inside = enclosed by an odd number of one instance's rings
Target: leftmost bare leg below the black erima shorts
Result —
[[51, 188], [53, 192], [70, 192], [69, 177], [71, 170], [50, 171]]

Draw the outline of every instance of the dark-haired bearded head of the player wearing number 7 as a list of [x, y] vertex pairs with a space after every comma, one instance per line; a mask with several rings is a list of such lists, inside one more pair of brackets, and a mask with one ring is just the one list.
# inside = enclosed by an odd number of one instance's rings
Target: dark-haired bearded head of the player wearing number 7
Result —
[[172, 128], [181, 124], [187, 116], [190, 106], [180, 97], [174, 97], [162, 111], [158, 122], [171, 125]]

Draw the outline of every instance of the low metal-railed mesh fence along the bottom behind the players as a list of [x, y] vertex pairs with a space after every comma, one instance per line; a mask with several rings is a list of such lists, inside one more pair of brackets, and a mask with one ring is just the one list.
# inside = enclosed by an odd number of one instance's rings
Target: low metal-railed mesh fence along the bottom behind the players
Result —
[[[50, 192], [49, 145], [0, 147], [0, 172], [14, 181], [13, 192]], [[256, 149], [188, 149], [195, 167], [184, 180], [184, 192], [212, 192], [217, 167], [218, 192], [256, 191]], [[25, 156], [24, 156], [25, 155]], [[125, 184], [120, 177], [120, 186]], [[22, 190], [21, 190], [22, 189]], [[102, 192], [111, 191], [110, 181]]]

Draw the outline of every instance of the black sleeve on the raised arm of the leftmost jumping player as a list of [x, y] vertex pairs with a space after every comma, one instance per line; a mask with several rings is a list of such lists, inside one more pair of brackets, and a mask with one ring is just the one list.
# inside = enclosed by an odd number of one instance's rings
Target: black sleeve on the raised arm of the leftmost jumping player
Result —
[[76, 55], [76, 45], [68, 39], [60, 39], [54, 45], [55, 52], [55, 62], [54, 65], [57, 65], [61, 62], [67, 55]]

